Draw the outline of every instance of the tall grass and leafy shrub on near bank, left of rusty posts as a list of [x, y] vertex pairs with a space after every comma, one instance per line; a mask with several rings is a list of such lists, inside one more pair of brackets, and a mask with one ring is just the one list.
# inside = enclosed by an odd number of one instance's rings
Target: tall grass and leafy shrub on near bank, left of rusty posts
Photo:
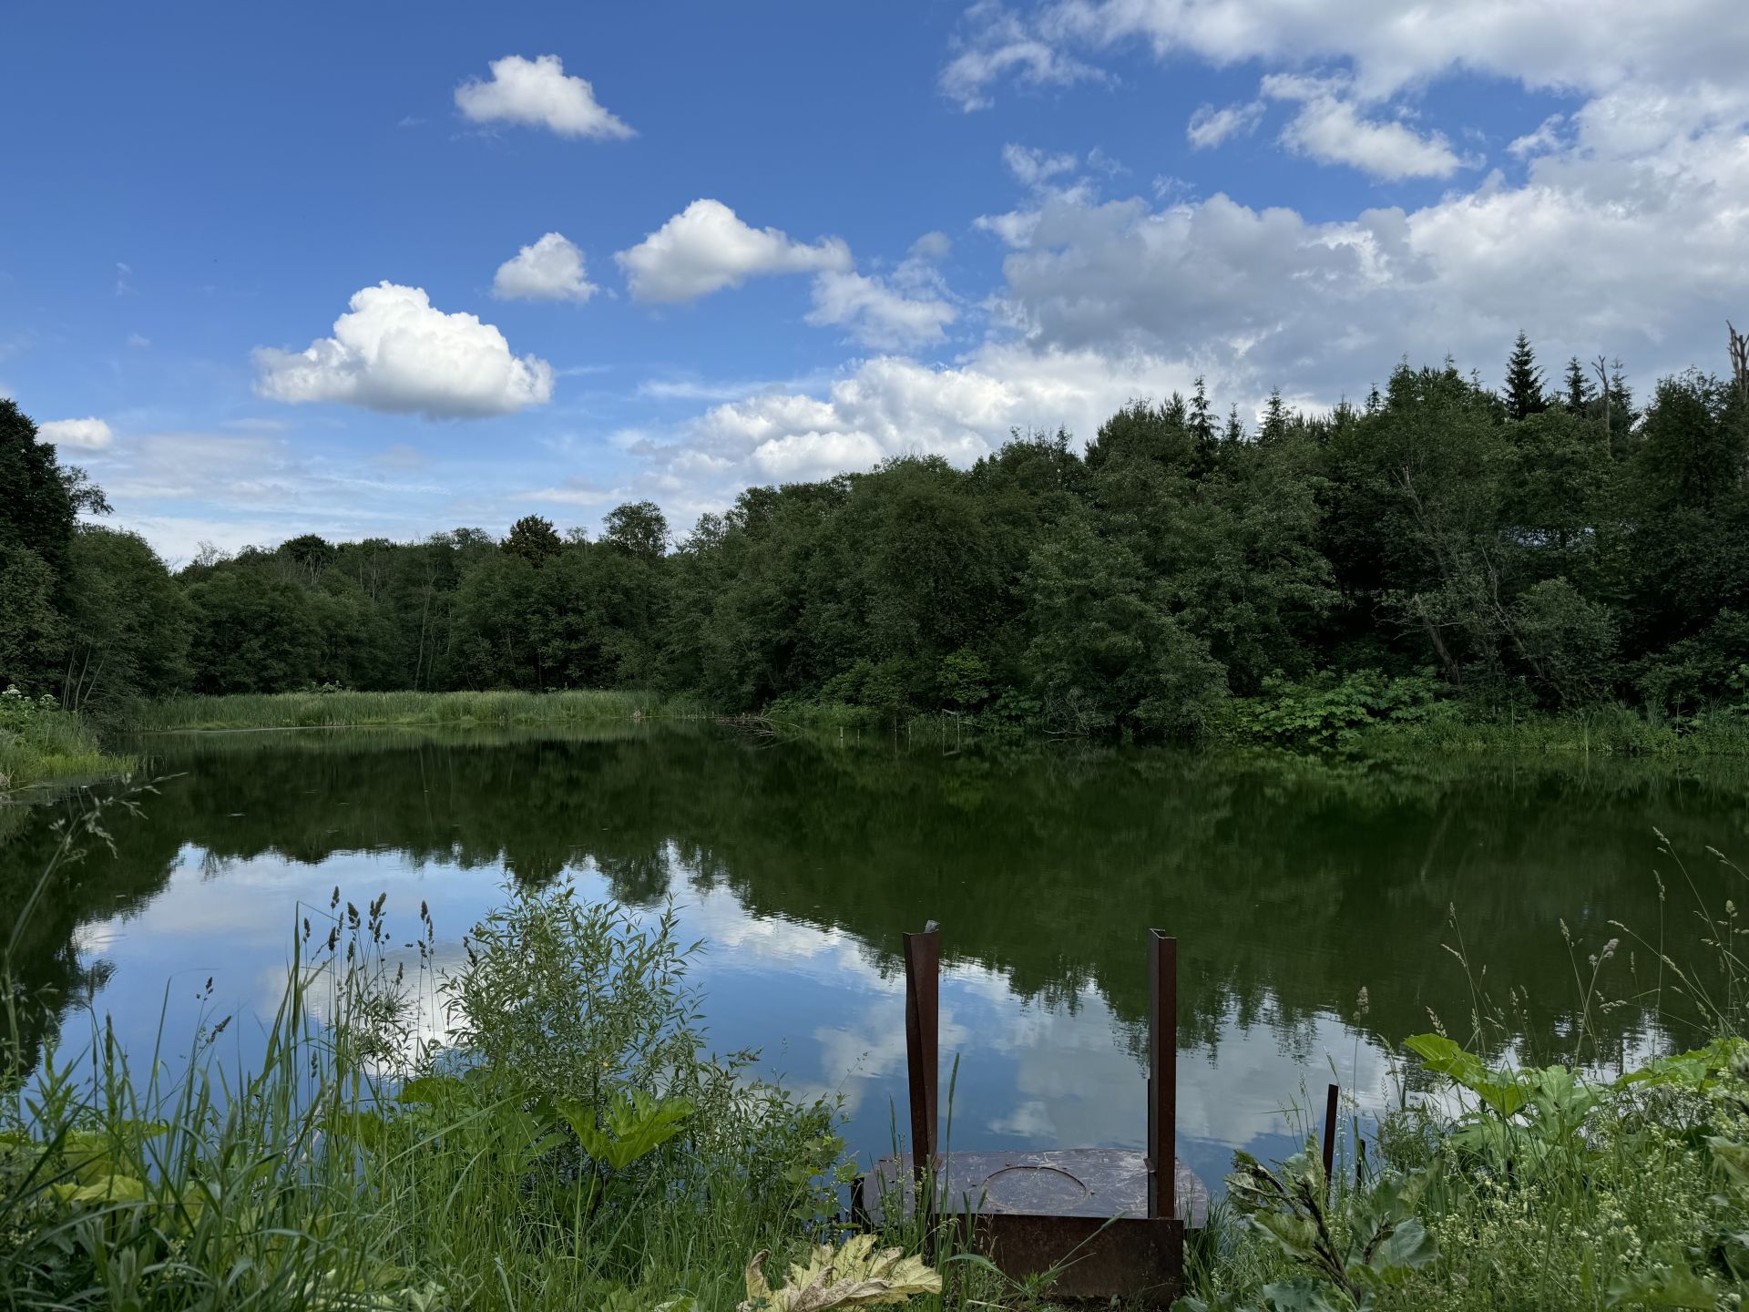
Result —
[[512, 890], [442, 967], [423, 906], [308, 915], [248, 1071], [224, 1016], [31, 1069], [65, 1001], [5, 990], [0, 1307], [728, 1312], [841, 1239], [833, 1107], [707, 1053], [672, 918]]

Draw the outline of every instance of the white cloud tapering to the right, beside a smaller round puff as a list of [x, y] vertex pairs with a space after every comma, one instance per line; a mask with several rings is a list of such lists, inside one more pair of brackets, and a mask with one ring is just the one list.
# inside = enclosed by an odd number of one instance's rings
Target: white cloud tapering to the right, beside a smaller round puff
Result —
[[696, 301], [771, 273], [848, 271], [850, 247], [815, 245], [775, 227], [749, 227], [722, 201], [698, 199], [638, 245], [614, 255], [640, 301]]

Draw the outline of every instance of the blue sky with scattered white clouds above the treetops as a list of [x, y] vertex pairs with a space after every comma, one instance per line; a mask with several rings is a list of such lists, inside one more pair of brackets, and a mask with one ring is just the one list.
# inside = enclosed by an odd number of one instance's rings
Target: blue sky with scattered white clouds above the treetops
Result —
[[1196, 374], [1525, 327], [1644, 387], [1749, 318], [1739, 3], [511, 9], [0, 16], [0, 392], [117, 523], [684, 532]]

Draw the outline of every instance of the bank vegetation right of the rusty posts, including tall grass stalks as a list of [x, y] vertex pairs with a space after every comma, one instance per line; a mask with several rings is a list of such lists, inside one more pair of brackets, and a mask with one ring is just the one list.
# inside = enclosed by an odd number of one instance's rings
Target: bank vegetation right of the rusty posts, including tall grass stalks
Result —
[[[1226, 1205], [1195, 1244], [1184, 1312], [1740, 1307], [1749, 992], [1733, 896], [1746, 878], [1716, 852], [1711, 871], [1660, 857], [1672, 910], [1705, 924], [1712, 960], [1679, 964], [1614, 922], [1609, 941], [1569, 938], [1569, 1044], [1539, 1065], [1516, 1039], [1530, 1001], [1497, 1006], [1453, 946], [1471, 976], [1471, 1037], [1406, 1036], [1396, 1109], [1364, 1130], [1345, 1118], [1327, 1177], [1310, 1135], [1282, 1163], [1237, 1155]], [[1705, 1043], [1625, 1062], [1592, 1037], [1593, 1018], [1621, 1006]]]

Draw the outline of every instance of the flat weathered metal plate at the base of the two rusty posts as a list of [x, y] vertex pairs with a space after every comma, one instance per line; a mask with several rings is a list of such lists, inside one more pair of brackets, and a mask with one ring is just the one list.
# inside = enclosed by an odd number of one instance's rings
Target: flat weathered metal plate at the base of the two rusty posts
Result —
[[[1147, 1155], [1121, 1148], [948, 1153], [937, 1156], [936, 1211], [969, 1211], [978, 1216], [1146, 1218], [1147, 1176]], [[911, 1155], [881, 1158], [869, 1193], [876, 1216], [885, 1216], [888, 1198], [909, 1212], [915, 1205]], [[1179, 1219], [1189, 1228], [1198, 1230], [1209, 1223], [1209, 1190], [1182, 1162], [1174, 1172], [1174, 1197]]]

